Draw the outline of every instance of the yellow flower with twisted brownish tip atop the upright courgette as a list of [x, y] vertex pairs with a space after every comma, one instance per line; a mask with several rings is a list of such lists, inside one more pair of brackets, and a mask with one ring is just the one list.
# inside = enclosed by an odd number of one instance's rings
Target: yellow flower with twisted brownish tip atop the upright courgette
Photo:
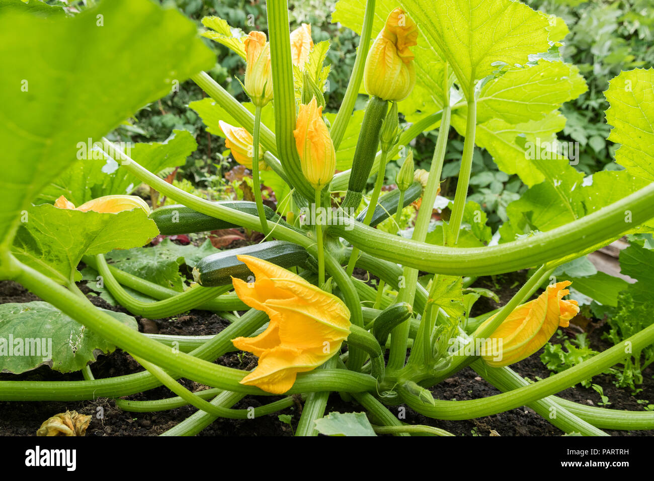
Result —
[[418, 29], [402, 9], [388, 15], [368, 52], [364, 86], [368, 94], [383, 100], [404, 100], [415, 85], [415, 66], [410, 46], [418, 45]]

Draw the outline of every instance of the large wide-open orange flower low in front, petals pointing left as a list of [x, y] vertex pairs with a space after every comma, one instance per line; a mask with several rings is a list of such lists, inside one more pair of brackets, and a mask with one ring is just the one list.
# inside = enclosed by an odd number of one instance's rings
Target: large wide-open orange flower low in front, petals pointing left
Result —
[[259, 357], [258, 366], [241, 384], [285, 393], [298, 372], [313, 370], [339, 352], [350, 333], [350, 312], [339, 298], [286, 269], [256, 257], [237, 258], [247, 264], [255, 281], [232, 278], [236, 294], [270, 318], [258, 336], [232, 339], [237, 349]]

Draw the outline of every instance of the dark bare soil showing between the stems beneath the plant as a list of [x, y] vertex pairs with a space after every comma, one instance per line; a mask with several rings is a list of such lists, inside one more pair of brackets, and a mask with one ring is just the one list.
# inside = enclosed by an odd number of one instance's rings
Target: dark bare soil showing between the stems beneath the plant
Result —
[[[357, 277], [368, 280], [365, 272], [356, 272]], [[506, 275], [503, 277], [483, 277], [478, 279], [474, 284], [476, 287], [487, 287], [498, 292], [500, 300], [506, 302], [525, 280], [525, 272]], [[80, 285], [83, 291], [88, 292], [84, 285]], [[499, 287], [500, 289], [496, 289]], [[126, 312], [122, 308], [114, 307], [102, 298], [90, 296], [93, 304], [96, 306], [121, 312]], [[33, 294], [27, 292], [22, 286], [11, 281], [0, 282], [0, 303], [6, 302], [30, 302], [39, 300]], [[487, 312], [497, 308], [492, 300], [481, 298], [473, 315]], [[228, 325], [228, 321], [218, 317], [213, 313], [193, 310], [184, 315], [179, 315], [173, 319], [150, 320], [135, 316], [139, 321], [139, 330], [145, 332], [160, 332], [162, 334], [216, 334]], [[602, 323], [591, 323], [587, 326], [591, 347], [601, 351], [610, 347], [605, 340], [601, 339], [604, 327]], [[574, 336], [572, 330], [567, 330], [568, 334]], [[553, 342], [561, 342], [556, 336]], [[541, 363], [539, 359], [540, 351], [528, 359], [521, 361], [513, 366], [514, 370], [522, 376], [531, 380], [538, 378], [547, 378], [550, 372]], [[241, 369], [251, 369], [256, 364], [256, 358], [250, 354], [239, 357], [238, 353], [228, 353], [218, 361], [222, 365], [232, 366]], [[117, 349], [110, 355], [101, 355], [92, 365], [92, 371], [95, 378], [108, 378], [121, 376], [143, 370], [127, 353]], [[644, 383], [642, 391], [633, 396], [629, 389], [618, 389], [613, 385], [613, 378], [610, 375], [600, 375], [593, 378], [593, 382], [604, 388], [604, 395], [608, 396], [611, 402], [610, 408], [620, 410], [642, 411], [643, 407], [638, 404], [637, 399], [645, 399], [654, 403], [654, 370], [650, 366], [643, 373]], [[61, 374], [50, 370], [46, 366], [36, 370], [26, 372], [20, 375], [0, 374], [0, 380], [82, 380], [80, 373]], [[205, 389], [190, 380], [182, 379], [180, 382], [191, 391]], [[436, 385], [432, 392], [434, 398], [444, 400], [465, 400], [488, 397], [500, 393], [497, 389], [489, 385], [485, 380], [477, 376], [471, 368], [465, 368], [452, 378], [449, 378]], [[151, 389], [145, 393], [126, 397], [136, 401], [162, 399], [173, 396], [173, 393], [165, 387]], [[583, 404], [596, 405], [601, 401], [600, 396], [593, 389], [585, 389], [580, 385], [566, 389], [559, 393], [560, 397]], [[241, 402], [233, 406], [234, 408], [256, 407], [263, 403], [271, 402], [279, 398], [275, 397], [245, 397]], [[299, 406], [292, 406], [276, 414], [264, 416], [256, 419], [217, 419], [213, 424], [204, 429], [200, 435], [203, 436], [290, 436], [292, 429], [295, 429], [299, 416]], [[65, 410], [77, 410], [82, 414], [93, 416], [92, 422], [88, 428], [87, 436], [154, 436], [160, 435], [167, 429], [175, 426], [183, 419], [188, 418], [196, 408], [185, 406], [163, 412], [152, 413], [135, 413], [125, 412], [116, 408], [112, 399], [99, 398], [95, 401], [75, 401], [75, 402], [5, 402], [0, 401], [0, 435], [3, 436], [31, 436], [35, 435], [37, 429], [45, 419], [54, 414], [65, 412]], [[439, 427], [450, 431], [455, 435], [463, 436], [559, 436], [563, 433], [553, 427], [548, 421], [541, 418], [530, 408], [525, 406], [516, 408], [495, 416], [485, 418], [470, 419], [467, 421], [442, 421], [438, 419], [425, 418], [417, 414], [410, 408], [404, 406], [390, 407], [392, 412], [405, 412], [405, 418], [402, 419], [407, 423], [425, 424]], [[339, 411], [360, 412], [362, 408], [355, 404], [350, 404], [341, 400], [337, 393], [334, 393], [328, 402], [326, 412]], [[101, 418], [98, 414], [102, 413]], [[289, 425], [279, 421], [278, 414], [289, 414], [292, 416], [291, 428]], [[608, 431], [611, 435], [644, 435], [651, 436], [654, 431]]]

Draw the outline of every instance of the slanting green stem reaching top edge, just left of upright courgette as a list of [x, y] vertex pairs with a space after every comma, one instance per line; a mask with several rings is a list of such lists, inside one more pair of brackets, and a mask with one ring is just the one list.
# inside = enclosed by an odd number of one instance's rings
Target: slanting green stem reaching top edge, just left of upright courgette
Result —
[[354, 110], [354, 103], [359, 94], [361, 80], [364, 77], [364, 67], [366, 66], [366, 57], [368, 56], [368, 49], [370, 48], [370, 38], [372, 33], [372, 24], [375, 20], [375, 0], [366, 1], [366, 12], [364, 13], [364, 24], [361, 29], [361, 37], [359, 39], [359, 46], [356, 49], [356, 58], [354, 59], [354, 67], [350, 81], [347, 83], [345, 89], [345, 96], [341, 102], [341, 107], [338, 109], [336, 119], [330, 129], [330, 136], [334, 142], [334, 149], [338, 150], [345, 134], [345, 129], [352, 116]]

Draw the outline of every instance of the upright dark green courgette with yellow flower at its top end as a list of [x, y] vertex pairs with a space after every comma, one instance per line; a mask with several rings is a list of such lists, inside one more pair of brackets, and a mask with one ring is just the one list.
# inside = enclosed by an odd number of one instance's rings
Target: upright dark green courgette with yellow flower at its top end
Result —
[[341, 204], [343, 208], [353, 207], [356, 209], [361, 204], [361, 192], [366, 188], [370, 170], [373, 162], [375, 162], [377, 146], [379, 145], [379, 131], [386, 118], [387, 109], [388, 101], [379, 97], [372, 97], [368, 101], [368, 105], [366, 105], [366, 113], [364, 113], [364, 119], [361, 122], [361, 131], [354, 150], [347, 194], [345, 194], [345, 200]]

